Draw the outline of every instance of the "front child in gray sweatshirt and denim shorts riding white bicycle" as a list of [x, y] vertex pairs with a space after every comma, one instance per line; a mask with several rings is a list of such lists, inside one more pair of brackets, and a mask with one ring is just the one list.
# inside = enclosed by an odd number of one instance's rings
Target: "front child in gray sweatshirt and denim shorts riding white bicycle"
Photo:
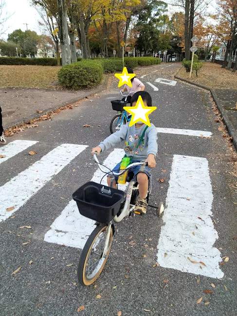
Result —
[[[146, 91], [140, 91], [134, 93], [131, 97], [131, 106], [135, 106], [139, 95], [141, 95], [145, 107], [152, 106], [151, 96]], [[142, 137], [143, 136], [143, 137]], [[139, 184], [139, 197], [136, 201], [134, 211], [146, 214], [147, 201], [146, 195], [148, 191], [148, 179], [150, 178], [150, 170], [156, 166], [155, 156], [157, 154], [157, 130], [156, 127], [151, 124], [148, 127], [142, 121], [137, 122], [133, 126], [129, 126], [129, 123], [123, 125], [121, 130], [117, 130], [115, 133], [107, 137], [99, 146], [92, 148], [91, 154], [95, 152], [113, 148], [117, 144], [125, 141], [124, 150], [126, 156], [130, 158], [130, 163], [145, 161], [148, 163], [148, 167], [135, 166], [130, 169], [134, 174], [134, 181]], [[114, 168], [114, 172], [118, 172], [120, 169], [120, 163]], [[115, 177], [116, 182], [118, 180]], [[111, 178], [108, 177], [107, 182], [110, 185]], [[116, 188], [116, 184], [113, 186]]]

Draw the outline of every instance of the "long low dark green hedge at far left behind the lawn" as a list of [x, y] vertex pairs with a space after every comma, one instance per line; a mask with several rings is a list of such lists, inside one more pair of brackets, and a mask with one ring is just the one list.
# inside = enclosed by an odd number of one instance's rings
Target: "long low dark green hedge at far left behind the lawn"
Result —
[[0, 65], [57, 66], [56, 58], [0, 57]]

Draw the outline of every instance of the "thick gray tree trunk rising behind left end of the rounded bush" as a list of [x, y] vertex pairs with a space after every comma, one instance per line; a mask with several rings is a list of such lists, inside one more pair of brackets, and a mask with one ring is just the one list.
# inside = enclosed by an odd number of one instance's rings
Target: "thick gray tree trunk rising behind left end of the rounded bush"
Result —
[[57, 0], [58, 33], [62, 50], [62, 66], [71, 64], [71, 52], [68, 39], [67, 6], [65, 0]]

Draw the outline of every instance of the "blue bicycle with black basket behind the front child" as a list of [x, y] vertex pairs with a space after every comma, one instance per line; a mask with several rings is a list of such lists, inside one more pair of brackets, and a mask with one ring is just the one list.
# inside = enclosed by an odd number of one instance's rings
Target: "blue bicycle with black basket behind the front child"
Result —
[[118, 113], [111, 119], [110, 122], [110, 133], [113, 134], [117, 130], [121, 130], [122, 126], [130, 122], [131, 115], [124, 111], [124, 107], [127, 106], [128, 96], [132, 96], [135, 92], [131, 91], [128, 94], [123, 94], [120, 91], [121, 95], [124, 97], [124, 100], [113, 100], [111, 101], [112, 109]]

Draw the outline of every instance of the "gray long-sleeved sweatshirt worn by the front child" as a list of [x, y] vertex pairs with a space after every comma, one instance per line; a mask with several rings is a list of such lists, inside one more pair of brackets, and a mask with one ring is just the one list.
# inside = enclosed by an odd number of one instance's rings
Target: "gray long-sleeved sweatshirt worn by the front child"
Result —
[[144, 138], [141, 141], [138, 149], [136, 149], [140, 136], [142, 135], [146, 124], [143, 124], [139, 129], [135, 128], [135, 124], [129, 127], [129, 123], [123, 125], [121, 130], [117, 130], [115, 133], [107, 137], [100, 143], [99, 147], [104, 150], [113, 148], [117, 144], [125, 141], [124, 150], [127, 157], [133, 157], [137, 160], [146, 160], [148, 154], [152, 153], [154, 156], [157, 154], [157, 130], [156, 127], [151, 124], [145, 132]]

